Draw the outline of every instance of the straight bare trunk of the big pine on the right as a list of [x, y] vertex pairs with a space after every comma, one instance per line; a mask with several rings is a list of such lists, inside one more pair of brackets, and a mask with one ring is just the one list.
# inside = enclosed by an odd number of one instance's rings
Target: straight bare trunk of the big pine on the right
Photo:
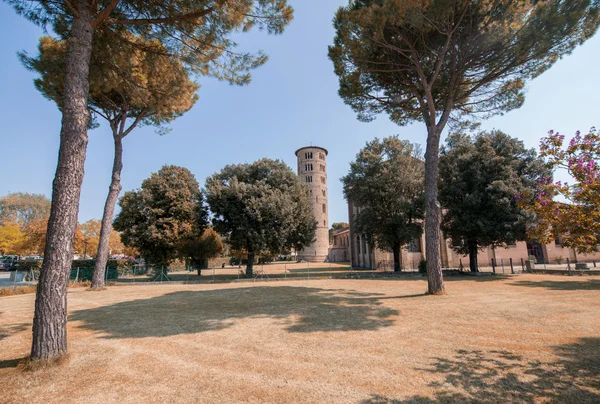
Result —
[[425, 246], [429, 294], [445, 292], [440, 258], [441, 208], [438, 202], [438, 160], [440, 133], [434, 125], [427, 128], [425, 151]]

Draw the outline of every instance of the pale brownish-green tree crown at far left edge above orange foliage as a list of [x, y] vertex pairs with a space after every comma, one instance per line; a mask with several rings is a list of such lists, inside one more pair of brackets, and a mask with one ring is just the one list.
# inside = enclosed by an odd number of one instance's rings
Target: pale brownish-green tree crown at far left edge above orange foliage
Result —
[[47, 218], [50, 200], [42, 194], [16, 192], [0, 198], [0, 224], [16, 223], [23, 230], [32, 221]]

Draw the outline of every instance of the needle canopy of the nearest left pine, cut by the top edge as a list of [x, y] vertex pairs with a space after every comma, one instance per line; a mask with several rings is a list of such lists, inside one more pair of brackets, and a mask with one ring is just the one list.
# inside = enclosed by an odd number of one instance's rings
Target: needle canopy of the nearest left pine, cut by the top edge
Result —
[[232, 34], [254, 26], [279, 34], [293, 16], [286, 0], [6, 1], [34, 23], [51, 26], [61, 39], [69, 38], [79, 8], [87, 7], [95, 35], [110, 38], [117, 48], [128, 44], [173, 57], [195, 74], [240, 85], [250, 82], [250, 70], [267, 57], [237, 52]]

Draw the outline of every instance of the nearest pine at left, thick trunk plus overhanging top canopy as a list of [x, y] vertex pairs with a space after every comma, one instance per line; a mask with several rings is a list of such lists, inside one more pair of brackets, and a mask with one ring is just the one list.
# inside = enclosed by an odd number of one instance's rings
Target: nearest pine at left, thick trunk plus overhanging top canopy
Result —
[[249, 71], [265, 63], [266, 56], [235, 52], [231, 34], [254, 25], [281, 33], [293, 12], [286, 0], [5, 1], [34, 23], [52, 25], [67, 40], [58, 166], [31, 348], [31, 359], [51, 359], [67, 351], [66, 296], [90, 124], [88, 75], [94, 35], [126, 43], [131, 34], [138, 35], [147, 43], [161, 44], [164, 53], [194, 73], [246, 84]]

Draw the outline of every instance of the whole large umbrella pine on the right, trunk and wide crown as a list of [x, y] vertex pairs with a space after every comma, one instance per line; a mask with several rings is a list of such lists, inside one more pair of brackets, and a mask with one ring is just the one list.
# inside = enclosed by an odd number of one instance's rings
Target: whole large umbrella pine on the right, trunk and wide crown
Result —
[[[525, 82], [590, 38], [597, 0], [350, 0], [329, 48], [340, 96], [371, 120], [423, 121], [429, 293], [444, 293], [440, 135], [450, 119], [520, 107]], [[543, 35], [540, 35], [543, 32]]]

